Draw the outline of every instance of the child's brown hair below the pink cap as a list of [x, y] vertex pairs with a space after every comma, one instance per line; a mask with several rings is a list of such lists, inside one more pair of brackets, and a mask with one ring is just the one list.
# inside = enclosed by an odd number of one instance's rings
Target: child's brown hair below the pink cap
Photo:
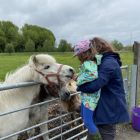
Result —
[[88, 49], [86, 52], [83, 52], [78, 56], [78, 59], [81, 61], [81, 63], [83, 63], [84, 61], [87, 61], [87, 60], [94, 60], [94, 57], [95, 57], [95, 49], [92, 47], [90, 49]]

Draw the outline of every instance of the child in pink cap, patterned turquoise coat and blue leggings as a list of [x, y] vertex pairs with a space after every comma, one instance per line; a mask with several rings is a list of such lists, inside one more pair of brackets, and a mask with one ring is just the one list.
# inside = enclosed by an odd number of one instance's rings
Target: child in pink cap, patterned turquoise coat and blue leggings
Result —
[[[96, 60], [94, 60], [95, 56], [91, 52], [94, 53], [94, 48], [89, 40], [82, 40], [74, 47], [74, 53], [81, 62], [80, 73], [77, 78], [78, 86], [98, 78], [97, 65], [100, 64], [101, 55], [96, 55]], [[93, 115], [99, 98], [100, 90], [93, 94], [81, 93], [81, 116], [90, 134], [97, 133], [96, 125], [93, 122]]]

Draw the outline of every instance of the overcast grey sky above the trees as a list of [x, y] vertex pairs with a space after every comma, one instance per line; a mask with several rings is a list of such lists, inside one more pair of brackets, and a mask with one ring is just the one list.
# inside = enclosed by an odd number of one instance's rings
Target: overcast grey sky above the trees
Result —
[[94, 36], [140, 41], [140, 0], [0, 0], [0, 20], [46, 27], [57, 42]]

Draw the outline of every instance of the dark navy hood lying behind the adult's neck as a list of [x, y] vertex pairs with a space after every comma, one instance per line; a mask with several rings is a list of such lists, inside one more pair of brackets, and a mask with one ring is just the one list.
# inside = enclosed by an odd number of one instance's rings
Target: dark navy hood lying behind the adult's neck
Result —
[[105, 57], [113, 57], [113, 58], [115, 58], [117, 60], [118, 64], [120, 66], [122, 66], [121, 58], [120, 58], [120, 55], [118, 53], [116, 53], [116, 52], [105, 52], [105, 53], [103, 53], [102, 60]]

